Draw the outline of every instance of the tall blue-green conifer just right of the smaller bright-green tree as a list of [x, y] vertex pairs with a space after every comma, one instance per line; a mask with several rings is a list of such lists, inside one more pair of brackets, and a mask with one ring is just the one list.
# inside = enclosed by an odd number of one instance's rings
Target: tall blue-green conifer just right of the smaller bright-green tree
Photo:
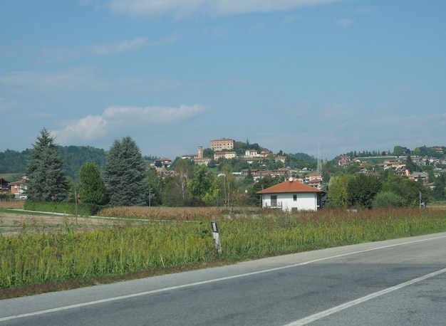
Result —
[[147, 205], [148, 184], [140, 149], [130, 137], [115, 140], [105, 162], [105, 186], [110, 204]]

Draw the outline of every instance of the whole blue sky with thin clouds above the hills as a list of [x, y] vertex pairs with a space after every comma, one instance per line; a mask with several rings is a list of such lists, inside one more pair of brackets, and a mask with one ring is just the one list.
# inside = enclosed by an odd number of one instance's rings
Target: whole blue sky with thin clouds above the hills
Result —
[[0, 151], [446, 146], [446, 1], [0, 0]]

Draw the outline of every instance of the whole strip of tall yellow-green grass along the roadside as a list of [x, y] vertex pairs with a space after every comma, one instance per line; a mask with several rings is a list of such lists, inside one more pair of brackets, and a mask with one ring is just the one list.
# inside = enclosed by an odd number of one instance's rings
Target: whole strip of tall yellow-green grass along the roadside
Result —
[[[285, 214], [265, 210], [247, 211], [230, 218], [221, 211], [217, 215], [215, 209], [197, 211], [186, 210], [177, 216], [182, 221], [148, 222], [138, 227], [1, 236], [0, 288], [123, 275], [216, 260], [241, 261], [446, 231], [446, 211], [440, 210], [351, 214], [346, 211]], [[141, 211], [135, 216], [138, 214]], [[161, 215], [157, 214], [157, 218]], [[192, 217], [196, 223], [188, 222]], [[220, 256], [212, 238], [212, 219], [219, 224], [223, 249]]]

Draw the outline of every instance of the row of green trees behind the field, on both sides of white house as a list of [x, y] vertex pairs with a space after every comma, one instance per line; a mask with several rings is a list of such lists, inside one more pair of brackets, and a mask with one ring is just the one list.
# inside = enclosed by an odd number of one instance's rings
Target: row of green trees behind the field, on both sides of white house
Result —
[[[65, 152], [76, 156], [76, 148]], [[98, 159], [101, 152], [97, 153]], [[43, 128], [28, 153], [26, 166], [28, 199], [31, 201], [74, 201], [94, 205], [123, 206], [233, 206], [234, 204], [259, 206], [257, 191], [265, 189], [286, 177], [262, 177], [254, 182], [253, 166], [246, 165], [246, 175], [234, 175], [234, 167], [245, 164], [242, 159], [219, 159], [214, 167], [194, 164], [190, 159], [177, 157], [170, 173], [159, 174], [148, 168], [147, 157], [142, 157], [138, 145], [131, 137], [115, 140], [100, 164], [94, 159], [83, 162], [78, 169], [77, 182], [65, 174], [61, 147]], [[284, 165], [301, 169], [315, 162], [305, 161], [299, 154], [284, 154], [285, 164], [271, 155], [264, 159], [265, 168], [276, 169]], [[408, 167], [417, 171], [417, 164], [408, 157]], [[239, 171], [239, 170], [236, 170]], [[296, 170], [295, 170], [296, 171]], [[430, 171], [432, 190], [422, 184], [393, 173], [392, 169], [378, 167], [372, 175], [352, 167], [336, 167], [333, 162], [323, 163], [323, 185], [328, 195], [323, 202], [333, 208], [378, 208], [384, 206], [417, 206], [420, 194], [427, 203], [445, 199], [445, 175], [438, 177]], [[295, 174], [293, 177], [304, 177]]]

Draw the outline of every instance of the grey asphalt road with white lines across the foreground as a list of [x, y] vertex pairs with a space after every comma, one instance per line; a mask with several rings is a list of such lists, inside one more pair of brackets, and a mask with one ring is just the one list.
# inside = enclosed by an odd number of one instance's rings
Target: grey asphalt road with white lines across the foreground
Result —
[[446, 325], [446, 233], [0, 300], [0, 325]]

